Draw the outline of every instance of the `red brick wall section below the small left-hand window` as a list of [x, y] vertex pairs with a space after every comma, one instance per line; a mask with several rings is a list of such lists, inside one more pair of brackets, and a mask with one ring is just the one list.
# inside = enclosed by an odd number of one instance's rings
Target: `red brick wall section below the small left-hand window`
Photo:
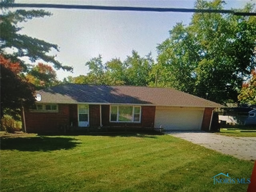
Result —
[[58, 112], [30, 112], [25, 110], [26, 131], [29, 133], [58, 132], [69, 124], [69, 106], [58, 104]]

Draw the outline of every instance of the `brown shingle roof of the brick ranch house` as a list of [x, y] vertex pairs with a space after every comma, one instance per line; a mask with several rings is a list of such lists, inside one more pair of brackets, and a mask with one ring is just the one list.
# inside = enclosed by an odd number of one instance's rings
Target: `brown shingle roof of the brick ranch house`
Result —
[[42, 103], [143, 104], [154, 106], [223, 107], [172, 88], [66, 84], [38, 91]]

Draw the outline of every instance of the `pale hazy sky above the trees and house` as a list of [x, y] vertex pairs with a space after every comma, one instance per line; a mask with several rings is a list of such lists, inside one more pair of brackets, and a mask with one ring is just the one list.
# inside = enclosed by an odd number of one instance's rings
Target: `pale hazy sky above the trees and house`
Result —
[[[242, 8], [247, 2], [251, 1], [226, 0], [224, 8]], [[37, 0], [35, 2], [33, 0], [16, 0], [15, 3], [194, 8], [195, 1]], [[57, 70], [59, 80], [63, 80], [67, 76], [85, 75], [88, 72], [85, 63], [99, 54], [102, 55], [104, 63], [112, 58], [120, 58], [123, 61], [128, 55], [131, 55], [132, 50], [138, 51], [140, 56], [152, 52], [153, 58], [156, 59], [156, 46], [168, 38], [169, 30], [178, 22], [188, 25], [192, 18], [192, 13], [179, 12], [54, 8], [45, 8], [44, 10], [50, 11], [52, 16], [33, 18], [28, 22], [20, 23], [19, 26], [23, 27], [20, 34], [26, 34], [59, 46], [59, 52], [53, 51], [50, 54], [56, 55], [56, 59], [63, 65], [74, 67], [73, 73]]]

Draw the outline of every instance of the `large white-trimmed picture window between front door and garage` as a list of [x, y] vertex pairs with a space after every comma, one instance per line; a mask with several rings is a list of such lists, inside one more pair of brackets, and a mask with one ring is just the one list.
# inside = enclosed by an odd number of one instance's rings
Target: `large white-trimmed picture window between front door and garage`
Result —
[[140, 122], [141, 106], [110, 106], [110, 122]]

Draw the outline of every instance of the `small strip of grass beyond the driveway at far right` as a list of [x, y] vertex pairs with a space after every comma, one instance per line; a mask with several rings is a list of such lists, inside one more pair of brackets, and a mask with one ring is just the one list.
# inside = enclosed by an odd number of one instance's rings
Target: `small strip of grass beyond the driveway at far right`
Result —
[[256, 137], [256, 127], [221, 128], [217, 134], [235, 137]]

